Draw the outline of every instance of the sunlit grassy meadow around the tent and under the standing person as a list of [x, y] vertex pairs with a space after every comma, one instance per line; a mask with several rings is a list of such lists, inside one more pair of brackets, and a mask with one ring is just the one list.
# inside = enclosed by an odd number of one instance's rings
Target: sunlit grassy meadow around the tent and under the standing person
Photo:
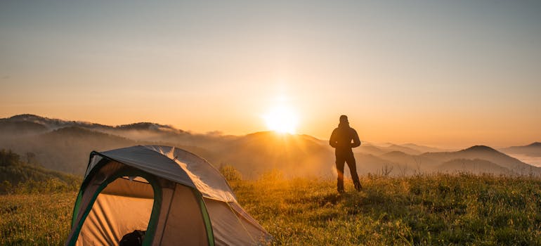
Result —
[[[541, 245], [541, 180], [363, 176], [334, 181], [264, 176], [231, 181], [274, 245]], [[75, 193], [0, 196], [0, 245], [62, 245]]]

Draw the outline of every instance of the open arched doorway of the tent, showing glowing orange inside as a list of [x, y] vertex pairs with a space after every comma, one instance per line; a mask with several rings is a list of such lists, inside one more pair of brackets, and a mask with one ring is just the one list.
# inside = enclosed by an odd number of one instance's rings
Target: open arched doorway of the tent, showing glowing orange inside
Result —
[[96, 197], [77, 245], [117, 245], [126, 233], [147, 231], [154, 202], [154, 190], [146, 179], [120, 176]]

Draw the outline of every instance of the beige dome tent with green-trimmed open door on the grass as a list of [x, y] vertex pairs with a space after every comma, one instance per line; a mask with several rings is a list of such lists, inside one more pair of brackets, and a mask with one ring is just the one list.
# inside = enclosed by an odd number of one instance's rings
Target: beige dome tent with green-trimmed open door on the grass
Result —
[[143, 245], [262, 245], [271, 238], [237, 202], [209, 162], [148, 145], [93, 151], [66, 245], [118, 245], [145, 231]]

